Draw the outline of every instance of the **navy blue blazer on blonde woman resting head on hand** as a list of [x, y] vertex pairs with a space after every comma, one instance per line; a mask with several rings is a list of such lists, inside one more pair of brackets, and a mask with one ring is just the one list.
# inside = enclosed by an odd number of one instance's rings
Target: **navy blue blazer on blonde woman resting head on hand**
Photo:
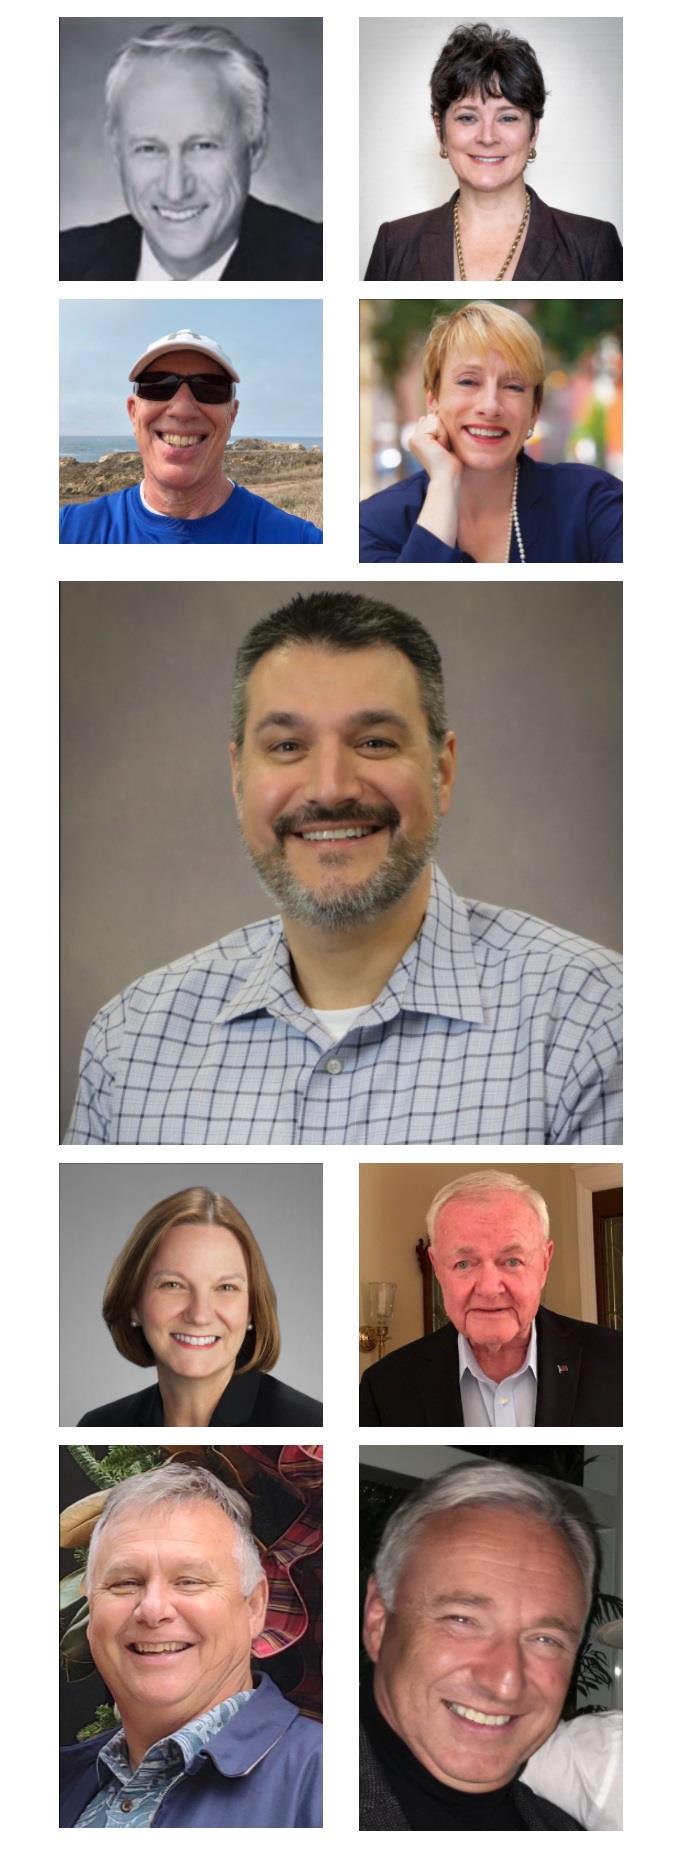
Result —
[[[423, 468], [360, 501], [360, 564], [475, 564], [418, 527], [429, 488]], [[623, 564], [623, 483], [586, 462], [519, 466], [518, 514], [529, 564]], [[519, 562], [512, 535], [510, 562]]]

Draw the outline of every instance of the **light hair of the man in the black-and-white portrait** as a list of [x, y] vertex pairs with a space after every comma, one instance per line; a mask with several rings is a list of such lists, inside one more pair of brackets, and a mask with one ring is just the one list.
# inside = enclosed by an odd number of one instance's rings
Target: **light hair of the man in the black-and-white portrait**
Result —
[[[126, 78], [142, 59], [150, 57], [214, 57], [224, 70], [225, 85], [238, 94], [242, 122], [251, 157], [257, 159], [268, 141], [268, 102], [270, 76], [259, 52], [244, 44], [227, 26], [194, 26], [190, 20], [176, 18], [164, 26], [148, 26], [122, 44], [109, 67], [104, 87], [105, 128], [111, 141], [116, 141], [116, 115], [120, 92]], [[150, 72], [150, 81], [152, 72]]]

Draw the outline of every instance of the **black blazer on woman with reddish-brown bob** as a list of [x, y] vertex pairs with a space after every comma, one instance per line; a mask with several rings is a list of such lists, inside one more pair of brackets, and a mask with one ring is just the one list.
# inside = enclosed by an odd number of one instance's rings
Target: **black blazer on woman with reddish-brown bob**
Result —
[[[261, 1375], [248, 1369], [246, 1375], [233, 1375], [225, 1393], [220, 1395], [211, 1426], [322, 1426], [322, 1400], [298, 1388], [286, 1388], [274, 1375]], [[159, 1384], [142, 1388], [140, 1393], [128, 1393], [122, 1400], [109, 1400], [83, 1413], [79, 1426], [163, 1426], [163, 1400]]]

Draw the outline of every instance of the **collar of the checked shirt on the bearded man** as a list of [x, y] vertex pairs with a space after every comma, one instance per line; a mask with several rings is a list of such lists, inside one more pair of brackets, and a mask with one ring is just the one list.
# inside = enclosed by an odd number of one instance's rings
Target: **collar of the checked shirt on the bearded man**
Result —
[[[261, 1008], [281, 1016], [301, 1034], [318, 1038], [320, 1045], [327, 1043], [320, 1021], [294, 986], [279, 918], [272, 919], [272, 936], [264, 951], [253, 958], [251, 975], [238, 997], [220, 1008], [216, 1027]], [[421, 931], [408, 944], [377, 1001], [362, 1010], [362, 1023], [390, 1021], [399, 1010], [445, 1016], [475, 1027], [484, 1023], [466, 903], [453, 892], [440, 868], [432, 870]]]

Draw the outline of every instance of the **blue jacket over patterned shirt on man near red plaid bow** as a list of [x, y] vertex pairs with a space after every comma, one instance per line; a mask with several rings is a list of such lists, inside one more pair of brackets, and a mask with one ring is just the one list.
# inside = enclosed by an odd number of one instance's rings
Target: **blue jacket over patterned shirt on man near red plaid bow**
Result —
[[[111, 1735], [61, 1752], [59, 1826], [78, 1824], [98, 1791], [96, 1759]], [[322, 1728], [261, 1672], [250, 1702], [200, 1750], [161, 1800], [152, 1830], [198, 1826], [320, 1828]]]

